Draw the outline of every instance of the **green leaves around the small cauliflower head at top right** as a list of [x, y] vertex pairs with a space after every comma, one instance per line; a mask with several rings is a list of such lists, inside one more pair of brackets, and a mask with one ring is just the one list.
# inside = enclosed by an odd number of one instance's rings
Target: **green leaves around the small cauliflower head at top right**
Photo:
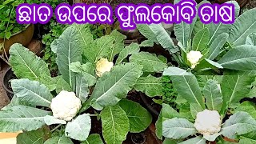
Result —
[[[202, 1], [198, 6], [205, 2]], [[254, 17], [256, 8], [238, 16], [240, 10], [238, 2], [232, 3], [235, 6], [237, 17], [234, 24], [225, 25], [220, 22], [206, 25], [202, 24], [199, 18], [194, 18], [194, 22], [190, 24], [186, 22], [174, 24], [177, 46], [174, 46], [173, 38], [170, 38], [170, 34], [161, 24], [138, 25], [137, 27], [148, 39], [147, 41], [160, 44], [169, 50], [173, 61], [178, 63], [178, 67], [191, 70], [195, 74], [222, 74], [222, 70], [226, 69], [256, 70], [253, 35], [256, 32], [256, 18]], [[194, 62], [194, 65], [191, 65], [191, 57], [187, 57], [191, 50], [198, 51], [198, 56], [194, 56], [198, 57], [198, 62]]]

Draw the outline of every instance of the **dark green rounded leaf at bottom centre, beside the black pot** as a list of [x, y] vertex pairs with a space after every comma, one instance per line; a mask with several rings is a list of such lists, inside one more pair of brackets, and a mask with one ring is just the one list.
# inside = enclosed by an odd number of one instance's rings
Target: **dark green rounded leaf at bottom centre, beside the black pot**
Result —
[[130, 132], [140, 133], [152, 122], [151, 114], [139, 103], [123, 99], [119, 106], [126, 112], [130, 122]]

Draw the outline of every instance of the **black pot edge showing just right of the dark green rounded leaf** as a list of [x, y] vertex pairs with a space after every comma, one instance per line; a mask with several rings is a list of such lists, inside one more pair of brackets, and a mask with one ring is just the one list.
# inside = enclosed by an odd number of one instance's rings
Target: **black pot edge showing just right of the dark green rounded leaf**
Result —
[[142, 98], [142, 102], [145, 104], [146, 109], [150, 111], [154, 118], [158, 118], [159, 112], [158, 110], [155, 110], [154, 107], [151, 105], [150, 98], [148, 98], [146, 94], [143, 93], [139, 93], [139, 95]]

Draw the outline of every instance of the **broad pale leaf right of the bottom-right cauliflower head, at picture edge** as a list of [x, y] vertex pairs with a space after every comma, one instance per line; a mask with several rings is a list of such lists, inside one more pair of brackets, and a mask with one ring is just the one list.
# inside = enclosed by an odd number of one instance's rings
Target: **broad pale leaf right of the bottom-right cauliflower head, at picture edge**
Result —
[[222, 126], [221, 134], [227, 138], [234, 139], [237, 135], [250, 133], [256, 130], [256, 121], [246, 112], [238, 112]]

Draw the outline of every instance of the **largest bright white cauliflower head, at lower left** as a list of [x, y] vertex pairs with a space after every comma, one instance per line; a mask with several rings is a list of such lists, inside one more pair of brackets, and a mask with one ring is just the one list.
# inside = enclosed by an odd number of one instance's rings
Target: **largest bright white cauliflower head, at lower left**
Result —
[[82, 107], [74, 92], [62, 90], [50, 103], [54, 118], [71, 121]]

